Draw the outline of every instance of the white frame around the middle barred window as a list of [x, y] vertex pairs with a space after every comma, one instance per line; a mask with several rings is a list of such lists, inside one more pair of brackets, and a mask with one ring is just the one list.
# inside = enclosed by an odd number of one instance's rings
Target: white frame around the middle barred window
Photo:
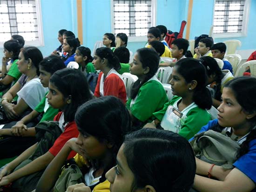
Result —
[[[156, 0], [151, 0], [151, 24], [152, 26], [155, 26], [156, 21]], [[115, 18], [114, 18], [114, 0], [111, 0], [111, 31], [114, 34], [115, 33]], [[129, 42], [144, 42], [147, 41], [147, 36], [128, 36]]]

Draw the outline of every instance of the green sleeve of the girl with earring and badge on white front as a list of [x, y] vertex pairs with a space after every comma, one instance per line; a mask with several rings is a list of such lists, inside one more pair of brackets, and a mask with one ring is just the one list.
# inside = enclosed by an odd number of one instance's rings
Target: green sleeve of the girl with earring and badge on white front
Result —
[[189, 140], [210, 120], [211, 116], [206, 110], [195, 107], [187, 113], [187, 119], [178, 134]]

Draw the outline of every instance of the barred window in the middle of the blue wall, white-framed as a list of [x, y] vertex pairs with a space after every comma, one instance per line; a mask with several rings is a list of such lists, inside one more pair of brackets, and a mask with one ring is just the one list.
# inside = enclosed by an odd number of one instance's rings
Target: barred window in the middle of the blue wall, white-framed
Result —
[[155, 0], [112, 0], [113, 33], [126, 33], [130, 40], [145, 40], [155, 26]]

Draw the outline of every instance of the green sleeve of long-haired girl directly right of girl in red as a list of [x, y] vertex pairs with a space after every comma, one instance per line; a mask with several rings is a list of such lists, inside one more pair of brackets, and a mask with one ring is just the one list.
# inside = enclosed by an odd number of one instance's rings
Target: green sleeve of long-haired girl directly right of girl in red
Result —
[[168, 101], [166, 92], [158, 81], [152, 80], [141, 86], [131, 113], [142, 122], [152, 121], [153, 113], [162, 109]]

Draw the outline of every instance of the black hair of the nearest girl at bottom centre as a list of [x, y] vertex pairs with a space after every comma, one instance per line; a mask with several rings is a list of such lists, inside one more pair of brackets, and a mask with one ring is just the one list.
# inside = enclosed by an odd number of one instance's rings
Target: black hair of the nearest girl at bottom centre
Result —
[[130, 133], [125, 137], [123, 153], [134, 173], [132, 191], [151, 185], [156, 192], [189, 192], [194, 183], [193, 149], [174, 132], [143, 128]]

